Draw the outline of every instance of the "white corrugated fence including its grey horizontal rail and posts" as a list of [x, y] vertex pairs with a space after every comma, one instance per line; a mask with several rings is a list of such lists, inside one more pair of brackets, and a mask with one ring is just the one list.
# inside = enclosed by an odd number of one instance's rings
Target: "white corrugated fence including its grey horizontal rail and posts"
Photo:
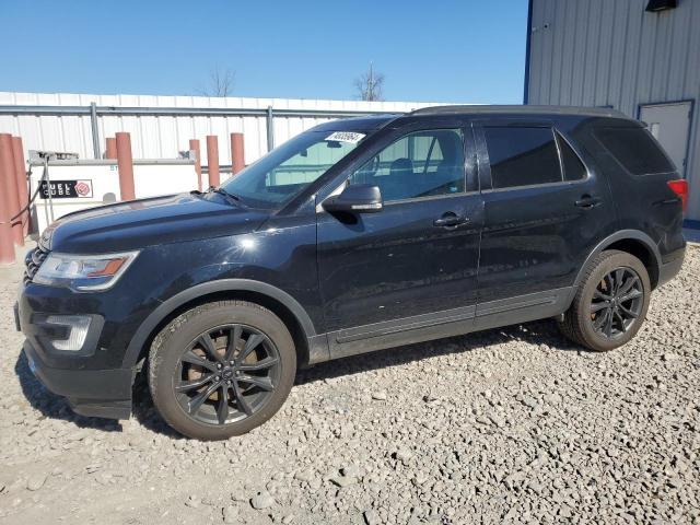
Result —
[[189, 139], [199, 139], [202, 165], [207, 164], [206, 136], [219, 137], [219, 162], [226, 165], [231, 163], [230, 133], [243, 132], [245, 162], [250, 164], [272, 143], [323, 121], [436, 104], [0, 92], [0, 132], [22, 137], [25, 158], [28, 150], [48, 150], [95, 159], [95, 153], [104, 153], [106, 137], [128, 131], [135, 159], [174, 159], [189, 150]]

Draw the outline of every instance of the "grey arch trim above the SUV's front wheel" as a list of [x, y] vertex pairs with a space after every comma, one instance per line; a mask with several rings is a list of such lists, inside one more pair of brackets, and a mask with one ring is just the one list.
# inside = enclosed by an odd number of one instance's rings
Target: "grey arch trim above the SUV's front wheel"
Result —
[[198, 284], [164, 301], [145, 318], [131, 338], [122, 368], [133, 368], [150, 350], [153, 338], [173, 318], [199, 304], [238, 299], [259, 304], [276, 314], [289, 328], [296, 347], [298, 364], [310, 362], [308, 340], [316, 336], [314, 324], [301, 304], [271, 284], [250, 279], [222, 279]]

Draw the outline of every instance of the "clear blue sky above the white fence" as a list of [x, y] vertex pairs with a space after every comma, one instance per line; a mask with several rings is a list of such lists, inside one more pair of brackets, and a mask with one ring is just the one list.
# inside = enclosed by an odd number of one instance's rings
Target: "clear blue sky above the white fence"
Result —
[[0, 91], [522, 103], [527, 0], [0, 2]]

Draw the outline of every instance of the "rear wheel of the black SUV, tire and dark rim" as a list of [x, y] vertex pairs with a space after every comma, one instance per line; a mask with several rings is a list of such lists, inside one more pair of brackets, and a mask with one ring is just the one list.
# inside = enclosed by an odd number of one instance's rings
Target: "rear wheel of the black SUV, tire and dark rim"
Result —
[[[634, 276], [639, 280], [630, 281]], [[617, 281], [621, 281], [617, 284], [619, 293], [616, 292]], [[630, 282], [632, 285], [626, 291], [625, 287]], [[619, 348], [641, 328], [651, 290], [649, 272], [641, 260], [626, 252], [603, 252], [586, 268], [563, 322], [558, 323], [559, 328], [573, 342], [596, 352]], [[608, 296], [609, 300], [605, 299]], [[633, 299], [621, 301], [626, 298]], [[628, 316], [628, 313], [634, 316]], [[608, 318], [611, 318], [609, 335]]]

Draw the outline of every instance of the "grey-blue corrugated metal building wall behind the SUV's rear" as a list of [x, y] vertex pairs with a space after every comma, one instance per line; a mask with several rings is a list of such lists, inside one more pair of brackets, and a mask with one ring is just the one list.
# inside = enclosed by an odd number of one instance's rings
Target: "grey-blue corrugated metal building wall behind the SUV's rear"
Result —
[[700, 1], [644, 11], [648, 0], [532, 0], [529, 104], [639, 106], [693, 101], [688, 218], [700, 220]]

